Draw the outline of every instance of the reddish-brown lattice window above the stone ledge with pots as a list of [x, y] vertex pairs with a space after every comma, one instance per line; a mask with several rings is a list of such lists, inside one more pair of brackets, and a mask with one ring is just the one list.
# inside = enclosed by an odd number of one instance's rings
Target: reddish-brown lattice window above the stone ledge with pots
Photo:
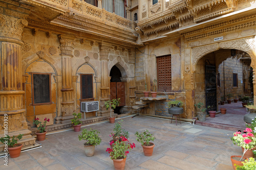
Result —
[[171, 61], [170, 55], [157, 57], [158, 91], [172, 91]]

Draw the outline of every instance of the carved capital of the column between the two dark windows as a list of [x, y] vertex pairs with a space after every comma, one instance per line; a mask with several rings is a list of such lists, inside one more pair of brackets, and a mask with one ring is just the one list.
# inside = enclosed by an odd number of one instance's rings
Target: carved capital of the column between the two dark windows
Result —
[[58, 35], [60, 42], [60, 51], [61, 54], [69, 55], [73, 57], [73, 50], [75, 45], [75, 37], [68, 35]]

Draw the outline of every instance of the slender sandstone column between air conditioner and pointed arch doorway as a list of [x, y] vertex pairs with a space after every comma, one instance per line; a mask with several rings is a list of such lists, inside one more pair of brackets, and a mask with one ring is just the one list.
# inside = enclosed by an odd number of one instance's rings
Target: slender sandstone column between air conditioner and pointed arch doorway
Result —
[[110, 99], [110, 79], [108, 72], [108, 62], [109, 62], [109, 52], [111, 47], [99, 44], [99, 54], [100, 54], [100, 108], [98, 114], [100, 116], [110, 115], [110, 110], [106, 110], [104, 103]]

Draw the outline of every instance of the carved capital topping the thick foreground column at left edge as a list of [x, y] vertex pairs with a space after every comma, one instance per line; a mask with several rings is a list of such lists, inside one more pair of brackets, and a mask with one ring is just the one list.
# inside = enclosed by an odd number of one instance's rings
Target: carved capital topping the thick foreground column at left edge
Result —
[[20, 40], [25, 26], [28, 26], [26, 19], [0, 14], [0, 37], [11, 37]]

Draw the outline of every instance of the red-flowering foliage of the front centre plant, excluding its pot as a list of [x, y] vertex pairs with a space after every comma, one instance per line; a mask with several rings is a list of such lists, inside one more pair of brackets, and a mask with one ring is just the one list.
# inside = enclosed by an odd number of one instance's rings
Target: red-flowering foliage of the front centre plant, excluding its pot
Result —
[[121, 136], [121, 141], [113, 141], [113, 149], [106, 149], [106, 152], [109, 152], [111, 159], [124, 159], [127, 154], [129, 154], [129, 149], [135, 148], [135, 143], [129, 143], [128, 139], [124, 136]]

